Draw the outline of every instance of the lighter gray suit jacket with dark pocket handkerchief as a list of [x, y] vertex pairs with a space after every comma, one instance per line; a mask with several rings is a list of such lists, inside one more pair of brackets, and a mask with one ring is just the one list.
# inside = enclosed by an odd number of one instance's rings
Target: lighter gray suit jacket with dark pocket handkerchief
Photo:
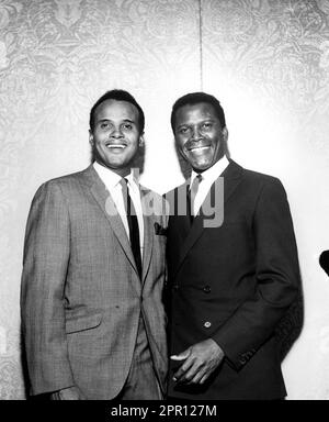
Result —
[[[143, 206], [150, 196], [162, 203], [141, 190]], [[122, 220], [109, 206], [93, 166], [44, 184], [34, 197], [21, 289], [32, 395], [77, 386], [88, 399], [114, 398], [128, 375], [140, 312], [166, 390], [166, 237], [156, 233], [166, 219], [144, 215], [140, 280]]]

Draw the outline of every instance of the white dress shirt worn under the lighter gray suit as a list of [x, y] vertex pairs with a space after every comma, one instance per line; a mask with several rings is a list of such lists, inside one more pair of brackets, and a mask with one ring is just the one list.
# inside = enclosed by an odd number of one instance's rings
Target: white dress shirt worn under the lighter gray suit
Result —
[[[114, 204], [116, 207], [116, 210], [121, 216], [121, 220], [123, 222], [123, 225], [125, 227], [126, 234], [129, 238], [129, 226], [124, 204], [124, 198], [122, 192], [122, 186], [120, 184], [122, 177], [118, 176], [116, 173], [111, 170], [107, 167], [101, 166], [99, 163], [93, 163], [93, 168], [95, 169], [97, 174], [100, 176], [103, 184], [106, 186]], [[143, 257], [143, 249], [144, 249], [144, 218], [143, 218], [143, 208], [141, 208], [141, 200], [140, 200], [140, 190], [138, 181], [134, 178], [133, 173], [131, 173], [128, 176], [125, 177], [127, 179], [127, 187], [129, 189], [129, 196], [132, 198], [132, 201], [134, 202], [134, 207], [137, 214], [137, 221], [138, 221], [138, 229], [139, 229], [139, 242], [140, 242], [140, 255]]]

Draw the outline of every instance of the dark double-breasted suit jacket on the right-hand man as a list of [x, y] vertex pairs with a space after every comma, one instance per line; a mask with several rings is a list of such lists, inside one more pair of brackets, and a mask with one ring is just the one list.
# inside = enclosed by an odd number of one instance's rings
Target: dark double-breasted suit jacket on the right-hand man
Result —
[[[225, 359], [203, 386], [175, 385], [169, 396], [277, 399], [286, 395], [274, 330], [299, 288], [297, 248], [279, 179], [235, 162], [224, 177], [224, 222], [192, 226], [172, 208], [168, 226], [170, 354], [212, 337]], [[184, 196], [186, 185], [174, 190]], [[216, 192], [215, 184], [207, 199]], [[181, 191], [181, 193], [179, 193]], [[205, 201], [207, 201], [207, 199]], [[181, 364], [181, 363], [180, 363]]]

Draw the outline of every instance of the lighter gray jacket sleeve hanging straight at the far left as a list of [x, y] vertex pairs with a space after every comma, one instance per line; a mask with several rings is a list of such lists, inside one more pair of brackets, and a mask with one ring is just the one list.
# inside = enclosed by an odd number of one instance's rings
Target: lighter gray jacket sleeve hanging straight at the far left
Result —
[[69, 245], [68, 207], [50, 181], [33, 199], [24, 244], [21, 316], [32, 395], [75, 384], [65, 331]]

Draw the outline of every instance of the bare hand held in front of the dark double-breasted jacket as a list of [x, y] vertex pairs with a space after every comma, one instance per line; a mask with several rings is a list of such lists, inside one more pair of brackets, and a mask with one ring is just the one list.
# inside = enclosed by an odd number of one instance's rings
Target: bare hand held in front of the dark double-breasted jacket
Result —
[[224, 358], [224, 352], [213, 338], [186, 348], [172, 360], [185, 360], [173, 375], [173, 380], [184, 384], [204, 384]]

